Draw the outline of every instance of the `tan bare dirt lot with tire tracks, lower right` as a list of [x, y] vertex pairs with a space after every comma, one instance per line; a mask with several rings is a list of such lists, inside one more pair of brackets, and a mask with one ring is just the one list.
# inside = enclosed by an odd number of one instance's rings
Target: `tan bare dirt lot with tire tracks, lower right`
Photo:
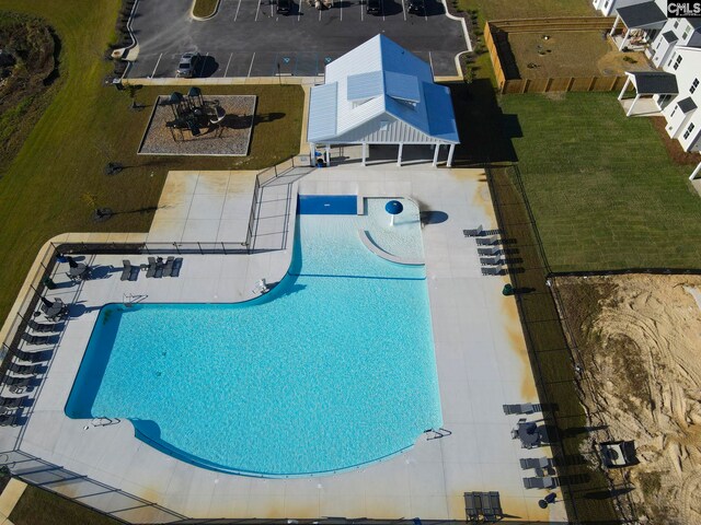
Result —
[[[701, 524], [701, 277], [553, 280], [575, 339], [594, 441], [632, 440], [630, 481], [642, 523]], [[604, 431], [606, 428], [606, 431]], [[583, 451], [584, 452], [584, 451]]]

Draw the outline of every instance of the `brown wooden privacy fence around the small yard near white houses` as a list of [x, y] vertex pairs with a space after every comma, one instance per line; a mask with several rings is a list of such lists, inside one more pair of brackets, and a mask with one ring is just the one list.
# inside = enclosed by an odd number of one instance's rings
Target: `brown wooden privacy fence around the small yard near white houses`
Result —
[[490, 52], [499, 93], [553, 93], [619, 91], [625, 77], [562, 77], [547, 79], [519, 79], [515, 65], [509, 68], [502, 57], [512, 54], [509, 33], [541, 33], [552, 31], [604, 31], [610, 30], [613, 18], [554, 18], [527, 20], [498, 20], [484, 26], [484, 43]]

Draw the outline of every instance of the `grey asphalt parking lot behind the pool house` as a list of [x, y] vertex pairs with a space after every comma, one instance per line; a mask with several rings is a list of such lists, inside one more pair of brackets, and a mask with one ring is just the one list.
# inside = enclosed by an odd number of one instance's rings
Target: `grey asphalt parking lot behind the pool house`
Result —
[[381, 0], [376, 15], [361, 0], [334, 0], [323, 10], [294, 0], [288, 14], [273, 1], [221, 0], [214, 18], [196, 21], [192, 0], [140, 0], [131, 20], [139, 52], [128, 77], [174, 77], [188, 50], [205, 57], [198, 77], [315, 77], [379, 33], [429, 62], [435, 75], [451, 77], [468, 46], [463, 24], [437, 0], [425, 0], [423, 14], [409, 13], [407, 0]]

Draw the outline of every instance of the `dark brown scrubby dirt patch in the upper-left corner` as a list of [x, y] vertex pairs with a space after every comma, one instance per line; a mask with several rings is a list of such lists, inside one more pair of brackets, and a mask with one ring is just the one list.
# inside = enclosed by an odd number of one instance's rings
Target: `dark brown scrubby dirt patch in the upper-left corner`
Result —
[[0, 166], [7, 168], [50, 100], [56, 43], [42, 20], [0, 11]]

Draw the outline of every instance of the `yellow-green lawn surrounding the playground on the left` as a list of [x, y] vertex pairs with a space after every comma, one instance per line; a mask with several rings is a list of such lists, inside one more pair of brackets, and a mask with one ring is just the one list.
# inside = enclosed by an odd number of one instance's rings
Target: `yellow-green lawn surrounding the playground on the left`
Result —
[[[174, 158], [136, 154], [151, 107], [129, 109], [126, 91], [104, 86], [111, 65], [102, 58], [114, 37], [117, 0], [0, 0], [0, 9], [44, 16], [61, 39], [60, 91], [0, 179], [0, 319], [47, 240], [64, 232], [147, 231], [152, 219], [136, 210], [158, 203], [169, 170], [263, 168], [299, 151], [303, 93], [299, 86], [230, 86], [205, 94], [258, 95], [246, 158]], [[147, 88], [137, 100], [152, 104], [168, 88]], [[128, 166], [105, 176], [104, 166]], [[83, 195], [101, 207], [129, 212], [95, 224]]]

